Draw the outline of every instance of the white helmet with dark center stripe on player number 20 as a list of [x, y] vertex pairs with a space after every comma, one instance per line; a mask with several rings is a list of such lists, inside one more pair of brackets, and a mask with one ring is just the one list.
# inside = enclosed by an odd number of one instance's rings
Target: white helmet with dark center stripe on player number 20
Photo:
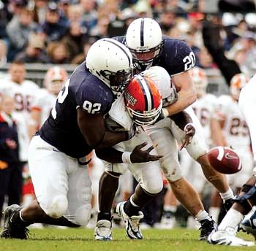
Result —
[[126, 42], [134, 63], [148, 66], [162, 51], [162, 30], [155, 20], [138, 18], [129, 24]]

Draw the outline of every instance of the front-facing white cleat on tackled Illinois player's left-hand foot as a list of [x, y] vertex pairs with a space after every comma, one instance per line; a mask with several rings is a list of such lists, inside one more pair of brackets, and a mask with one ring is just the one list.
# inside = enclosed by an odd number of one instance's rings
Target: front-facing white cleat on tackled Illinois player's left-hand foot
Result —
[[97, 221], [94, 230], [94, 239], [97, 241], [111, 241], [112, 240], [112, 223], [109, 220]]

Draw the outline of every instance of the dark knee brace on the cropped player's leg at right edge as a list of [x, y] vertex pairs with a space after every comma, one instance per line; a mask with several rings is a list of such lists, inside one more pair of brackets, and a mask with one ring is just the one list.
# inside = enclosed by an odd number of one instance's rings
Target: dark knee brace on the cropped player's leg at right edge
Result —
[[255, 185], [245, 184], [243, 185], [241, 192], [244, 192], [244, 194], [241, 196], [235, 196], [233, 201], [244, 206], [246, 212], [249, 212], [252, 209], [252, 206], [256, 205], [256, 187]]

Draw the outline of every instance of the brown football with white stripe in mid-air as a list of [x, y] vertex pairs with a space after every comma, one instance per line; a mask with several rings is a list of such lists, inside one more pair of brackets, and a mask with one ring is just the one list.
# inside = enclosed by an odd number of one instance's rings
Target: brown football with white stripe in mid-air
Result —
[[208, 151], [211, 166], [222, 174], [236, 174], [241, 170], [241, 159], [228, 147], [214, 147]]

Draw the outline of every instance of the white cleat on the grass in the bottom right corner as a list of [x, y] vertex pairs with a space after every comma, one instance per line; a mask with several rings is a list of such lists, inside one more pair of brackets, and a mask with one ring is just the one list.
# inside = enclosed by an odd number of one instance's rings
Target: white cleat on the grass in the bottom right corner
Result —
[[[233, 230], [233, 232], [236, 232]], [[212, 232], [207, 239], [207, 242], [214, 245], [224, 245], [224, 246], [235, 246], [235, 247], [252, 247], [255, 246], [254, 242], [246, 242], [233, 234], [227, 233], [225, 230], [219, 230]]]

